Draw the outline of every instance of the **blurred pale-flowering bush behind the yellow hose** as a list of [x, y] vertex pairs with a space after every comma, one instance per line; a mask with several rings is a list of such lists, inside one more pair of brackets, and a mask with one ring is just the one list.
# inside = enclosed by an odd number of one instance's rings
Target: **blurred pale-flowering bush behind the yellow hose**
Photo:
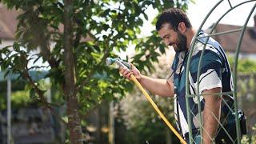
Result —
[[[138, 94], [139, 93], [139, 94]], [[152, 94], [150, 94], [152, 95]], [[171, 98], [152, 97], [158, 108], [174, 126], [173, 100]], [[129, 94], [121, 103], [122, 111], [120, 118], [126, 126], [126, 142], [130, 143], [166, 143], [166, 133], [175, 142], [175, 136], [166, 123], [155, 112], [150, 103], [140, 92]]]

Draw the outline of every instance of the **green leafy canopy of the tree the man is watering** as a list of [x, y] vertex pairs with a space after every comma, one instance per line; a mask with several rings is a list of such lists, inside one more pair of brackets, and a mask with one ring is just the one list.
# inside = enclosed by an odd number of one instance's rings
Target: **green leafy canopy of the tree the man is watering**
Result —
[[[129, 44], [136, 45], [136, 54], [129, 59], [142, 71], [152, 70], [152, 62], [158, 61], [159, 54], [155, 50], [160, 47], [160, 51], [165, 53], [156, 31], [148, 38], [138, 38], [142, 18], [148, 18], [145, 14], [147, 7], [153, 6], [162, 11], [175, 6], [186, 10], [188, 1], [2, 2], [9, 9], [20, 10], [21, 14], [18, 16], [16, 42], [0, 51], [1, 70], [6, 70], [6, 75], [10, 72], [19, 74], [28, 83], [31, 94], [36, 94], [34, 99], [42, 102], [45, 102], [46, 90], [30, 77], [29, 71], [49, 70], [45, 78], [50, 78], [52, 86], [60, 91], [57, 95], [61, 103], [58, 104], [66, 104], [71, 99], [66, 95], [74, 92], [82, 118], [100, 103], [118, 100], [132, 89], [132, 84], [121, 78], [118, 70], [110, 69], [105, 64], [107, 57], [118, 57], [114, 50], [126, 50]], [[66, 58], [70, 58], [70, 62], [66, 62]], [[48, 65], [34, 65], [41, 60], [41, 63]], [[71, 66], [66, 63], [71, 63]], [[63, 93], [65, 86], [73, 83], [65, 82], [70, 74], [66, 71], [70, 69], [74, 71], [75, 90]], [[46, 105], [49, 107], [49, 104]]]

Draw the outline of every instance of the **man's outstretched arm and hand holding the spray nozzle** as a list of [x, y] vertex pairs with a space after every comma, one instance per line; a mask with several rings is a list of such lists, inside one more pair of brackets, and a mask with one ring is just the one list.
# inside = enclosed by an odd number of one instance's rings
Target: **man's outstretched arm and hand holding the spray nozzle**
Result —
[[134, 74], [134, 77], [137, 78], [138, 82], [153, 94], [158, 94], [162, 97], [174, 96], [174, 84], [166, 79], [150, 78], [142, 75], [135, 66], [132, 66], [131, 70], [122, 67], [119, 70], [120, 73], [128, 79], [130, 79], [131, 74]]

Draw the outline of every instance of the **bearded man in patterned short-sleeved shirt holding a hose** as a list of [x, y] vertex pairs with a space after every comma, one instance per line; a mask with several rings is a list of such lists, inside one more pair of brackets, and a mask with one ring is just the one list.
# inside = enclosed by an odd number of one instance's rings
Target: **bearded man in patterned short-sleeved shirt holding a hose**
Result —
[[[178, 130], [183, 138], [189, 142], [185, 98], [187, 81], [186, 61], [196, 30], [193, 30], [190, 20], [184, 12], [174, 8], [165, 10], [160, 15], [156, 29], [166, 46], [172, 46], [176, 52], [173, 65], [170, 68], [170, 76], [167, 79], [150, 78], [141, 74], [134, 66], [132, 66], [132, 70], [120, 68], [120, 73], [129, 79], [130, 75], [134, 74], [138, 82], [154, 94], [163, 97], [174, 97], [174, 112]], [[199, 35], [203, 36], [206, 34], [201, 31]], [[205, 45], [206, 50], [203, 55], [198, 87], [198, 61]], [[214, 93], [230, 92], [233, 90], [230, 66], [227, 62], [226, 54], [224, 54], [224, 50], [214, 39], [210, 38], [208, 42], [206, 38], [197, 39], [190, 63], [188, 81], [190, 83], [190, 94], [196, 94], [199, 89], [199, 93], [203, 95], [199, 98], [202, 108], [203, 143], [222, 143], [222, 140], [227, 143], [235, 142], [237, 138], [235, 119], [232, 112], [228, 109], [228, 107], [231, 107], [231, 109], [234, 107], [232, 95], [213, 95]], [[223, 102], [226, 105], [222, 105]], [[190, 115], [192, 116], [194, 142], [198, 143], [200, 141], [198, 98], [189, 98], [189, 106]], [[218, 128], [219, 122], [222, 122], [222, 126], [225, 126], [225, 130], [229, 132], [230, 137], [222, 128]]]

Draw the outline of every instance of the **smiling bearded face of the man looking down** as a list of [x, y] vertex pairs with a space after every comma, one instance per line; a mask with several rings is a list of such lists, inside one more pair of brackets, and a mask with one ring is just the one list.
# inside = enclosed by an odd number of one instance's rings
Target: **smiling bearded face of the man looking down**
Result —
[[176, 53], [187, 50], [186, 36], [178, 30], [174, 31], [170, 24], [164, 24], [158, 31], [160, 38], [165, 42], [166, 46], [173, 46]]

